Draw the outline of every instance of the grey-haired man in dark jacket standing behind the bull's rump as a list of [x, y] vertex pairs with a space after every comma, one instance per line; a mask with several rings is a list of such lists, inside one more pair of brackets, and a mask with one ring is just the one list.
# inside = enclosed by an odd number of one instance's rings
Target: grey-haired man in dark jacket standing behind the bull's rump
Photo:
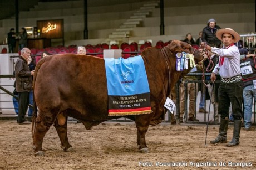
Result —
[[18, 120], [19, 125], [29, 124], [26, 121], [25, 115], [29, 104], [29, 92], [32, 90], [32, 75], [34, 75], [34, 70], [29, 71], [27, 59], [30, 56], [30, 50], [28, 48], [23, 48], [21, 50], [21, 56], [15, 64], [15, 78], [16, 78], [16, 90], [18, 92]]

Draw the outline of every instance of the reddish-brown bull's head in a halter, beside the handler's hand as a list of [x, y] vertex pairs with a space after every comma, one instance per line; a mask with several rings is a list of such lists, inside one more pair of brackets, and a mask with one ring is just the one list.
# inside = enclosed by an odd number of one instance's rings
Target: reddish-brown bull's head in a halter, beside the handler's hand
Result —
[[204, 56], [200, 53], [199, 50], [191, 47], [189, 44], [185, 42], [181, 42], [179, 40], [173, 40], [170, 44], [168, 44], [169, 49], [171, 50], [171, 53], [189, 53], [194, 55], [195, 63], [199, 63], [204, 59]]

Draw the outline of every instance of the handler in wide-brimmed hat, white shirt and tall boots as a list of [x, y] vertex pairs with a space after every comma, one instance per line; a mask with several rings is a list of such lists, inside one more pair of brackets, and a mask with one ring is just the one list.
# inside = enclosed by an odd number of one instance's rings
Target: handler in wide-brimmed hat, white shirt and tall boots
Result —
[[207, 50], [220, 56], [219, 63], [216, 64], [211, 73], [211, 81], [215, 81], [216, 74], [219, 73], [221, 83], [219, 86], [219, 106], [220, 114], [219, 135], [212, 144], [227, 143], [227, 131], [229, 123], [229, 106], [232, 105], [234, 117], [233, 138], [227, 146], [238, 146], [240, 130], [242, 126], [242, 92], [243, 83], [241, 81], [240, 53], [234, 43], [240, 40], [240, 35], [231, 28], [217, 30], [216, 37], [223, 42], [221, 49], [210, 47], [204, 42], [201, 45]]

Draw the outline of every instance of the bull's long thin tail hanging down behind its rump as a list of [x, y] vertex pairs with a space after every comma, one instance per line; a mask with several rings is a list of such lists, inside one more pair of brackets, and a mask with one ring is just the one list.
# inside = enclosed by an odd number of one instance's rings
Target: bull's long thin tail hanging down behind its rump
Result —
[[36, 119], [37, 119], [37, 105], [36, 105], [36, 101], [35, 101], [35, 82], [36, 82], [36, 77], [37, 77], [37, 71], [40, 69], [41, 65], [43, 63], [45, 63], [45, 60], [46, 58], [43, 58], [41, 59], [37, 65], [36, 65], [36, 68], [35, 68], [35, 73], [33, 75], [33, 116], [32, 116], [32, 129], [31, 129], [31, 132], [32, 132], [32, 137], [34, 137], [34, 134], [35, 134], [35, 130], [36, 130]]

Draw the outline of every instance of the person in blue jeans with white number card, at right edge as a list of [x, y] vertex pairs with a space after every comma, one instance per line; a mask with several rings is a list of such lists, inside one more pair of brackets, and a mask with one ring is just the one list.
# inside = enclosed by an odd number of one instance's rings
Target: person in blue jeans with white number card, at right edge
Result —
[[240, 52], [240, 68], [243, 80], [243, 100], [244, 100], [244, 129], [251, 130], [252, 126], [252, 107], [253, 99], [256, 99], [256, 89], [253, 81], [256, 80], [256, 54], [249, 54], [248, 49], [241, 48]]

